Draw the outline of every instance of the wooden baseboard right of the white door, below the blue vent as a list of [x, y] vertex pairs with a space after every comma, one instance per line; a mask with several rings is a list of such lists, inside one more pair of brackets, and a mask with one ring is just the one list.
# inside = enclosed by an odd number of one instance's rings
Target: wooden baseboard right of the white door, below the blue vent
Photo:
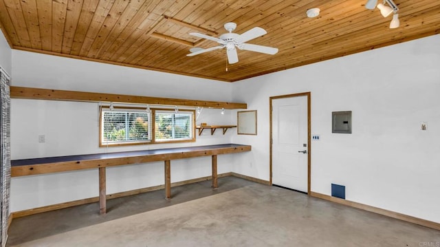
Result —
[[353, 208], [360, 208], [360, 209], [362, 209], [364, 211], [369, 211], [369, 212], [372, 212], [372, 213], [377, 213], [377, 214], [380, 214], [380, 215], [385, 215], [385, 216], [388, 216], [388, 217], [392, 217], [392, 218], [395, 218], [395, 219], [400, 219], [400, 220], [403, 220], [405, 222], [410, 222], [410, 223], [417, 224], [417, 225], [420, 225], [420, 226], [426, 226], [428, 228], [433, 228], [433, 229], [436, 229], [436, 230], [440, 230], [440, 224], [439, 223], [437, 223], [437, 222], [430, 222], [429, 220], [426, 220], [426, 219], [420, 219], [420, 218], [417, 218], [417, 217], [412, 217], [410, 215], [404, 215], [402, 213], [397, 213], [397, 212], [394, 212], [394, 211], [389, 211], [389, 210], [386, 210], [386, 209], [383, 209], [383, 208], [376, 208], [375, 206], [369, 206], [369, 205], [362, 204], [362, 203], [359, 203], [359, 202], [352, 202], [352, 201], [349, 201], [349, 200], [344, 200], [344, 199], [341, 199], [341, 198], [338, 198], [338, 197], [332, 197], [331, 195], [325, 195], [325, 194], [316, 193], [316, 192], [313, 192], [313, 191], [311, 191], [309, 195], [312, 196], [312, 197], [317, 197], [317, 198], [323, 199], [323, 200], [327, 200], [327, 201], [331, 201], [331, 202], [336, 202], [338, 204], [344, 204], [346, 206], [352, 206]]

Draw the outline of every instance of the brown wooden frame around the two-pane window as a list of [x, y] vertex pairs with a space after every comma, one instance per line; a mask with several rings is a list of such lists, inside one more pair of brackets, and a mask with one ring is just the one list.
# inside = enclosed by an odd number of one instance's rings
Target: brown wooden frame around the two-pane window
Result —
[[[139, 141], [139, 142], [113, 142], [113, 143], [105, 143], [102, 142], [102, 131], [103, 131], [103, 122], [102, 117], [104, 111], [109, 111], [110, 107], [100, 107], [99, 112], [99, 147], [121, 147], [121, 146], [135, 146], [135, 145], [144, 145], [144, 144], [166, 144], [166, 143], [179, 143], [179, 142], [195, 142], [196, 140], [196, 126], [195, 126], [195, 110], [192, 109], [179, 109], [179, 112], [177, 114], [184, 114], [189, 113], [192, 116], [191, 119], [191, 138], [186, 139], [173, 139], [173, 140], [156, 140], [156, 111], [159, 112], [169, 112], [170, 114], [176, 114], [175, 109], [170, 108], [151, 108], [150, 114], [148, 116], [148, 131], [151, 131], [149, 133], [150, 139], [146, 141]], [[126, 111], [134, 110], [134, 111], [145, 111], [145, 108], [142, 107], [113, 107], [116, 111], [124, 109]]]

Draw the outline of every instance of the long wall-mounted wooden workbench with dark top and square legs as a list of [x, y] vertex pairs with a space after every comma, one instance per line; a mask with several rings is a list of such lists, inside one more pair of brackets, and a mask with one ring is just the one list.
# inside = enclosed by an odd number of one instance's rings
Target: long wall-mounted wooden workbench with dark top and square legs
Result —
[[226, 153], [241, 153], [250, 151], [250, 145], [215, 144], [197, 147], [178, 147], [171, 149], [151, 149], [142, 151], [126, 151], [115, 153], [96, 153], [86, 155], [68, 155], [50, 158], [33, 158], [11, 161], [11, 176], [38, 175], [62, 171], [83, 169], [99, 170], [99, 202], [100, 213], [106, 213], [106, 167], [122, 166], [125, 164], [140, 164], [146, 162], [164, 161], [165, 197], [171, 198], [171, 160], [212, 156], [212, 188], [217, 184], [217, 155]]

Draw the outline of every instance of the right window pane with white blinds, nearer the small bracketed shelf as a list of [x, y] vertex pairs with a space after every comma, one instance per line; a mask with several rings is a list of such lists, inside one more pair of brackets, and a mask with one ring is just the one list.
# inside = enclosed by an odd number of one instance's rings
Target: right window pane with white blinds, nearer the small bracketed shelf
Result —
[[194, 136], [192, 126], [194, 114], [191, 112], [173, 113], [156, 111], [155, 140], [189, 140]]

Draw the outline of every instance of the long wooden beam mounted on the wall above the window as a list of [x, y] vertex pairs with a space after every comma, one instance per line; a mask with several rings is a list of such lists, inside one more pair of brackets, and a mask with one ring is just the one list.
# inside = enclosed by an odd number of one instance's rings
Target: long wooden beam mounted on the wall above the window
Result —
[[178, 98], [157, 98], [148, 96], [130, 96], [120, 94], [101, 94], [91, 92], [40, 89], [31, 87], [10, 87], [11, 98], [34, 100], [66, 100], [105, 103], [128, 103], [148, 105], [178, 105], [184, 107], [211, 107], [225, 109], [246, 109], [245, 103], [228, 103], [205, 100], [185, 100]]

